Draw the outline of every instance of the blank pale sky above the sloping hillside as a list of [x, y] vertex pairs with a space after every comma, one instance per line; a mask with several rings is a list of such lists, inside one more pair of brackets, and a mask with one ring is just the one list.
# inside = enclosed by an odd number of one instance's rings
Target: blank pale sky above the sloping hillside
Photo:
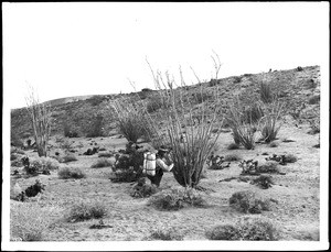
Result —
[[188, 84], [322, 65], [329, 55], [327, 2], [3, 3], [3, 87], [10, 108], [41, 101], [153, 88], [154, 69]]

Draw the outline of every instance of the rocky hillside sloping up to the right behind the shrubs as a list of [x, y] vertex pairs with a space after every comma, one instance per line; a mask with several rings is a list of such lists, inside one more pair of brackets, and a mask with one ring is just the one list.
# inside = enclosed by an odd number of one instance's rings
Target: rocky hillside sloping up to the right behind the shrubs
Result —
[[[279, 94], [279, 99], [286, 105], [286, 113], [292, 118], [310, 120], [319, 118], [320, 103], [320, 67], [307, 66], [297, 67], [289, 70], [274, 70], [260, 74], [244, 74], [222, 79], [211, 79], [209, 83], [192, 85], [185, 88], [188, 95], [197, 92], [202, 87], [203, 92], [209, 96], [220, 91], [222, 108], [228, 108], [236, 95], [241, 95], [243, 101], [248, 102], [259, 95], [260, 83], [271, 85], [275, 92]], [[245, 95], [247, 94], [247, 95]], [[45, 102], [51, 105], [52, 111], [52, 134], [62, 134], [65, 129], [76, 132], [79, 136], [88, 136], [90, 129], [98, 123], [104, 128], [106, 135], [115, 130], [115, 121], [109, 110], [109, 100], [118, 99], [129, 95], [100, 95], [61, 98]], [[142, 89], [138, 92], [146, 102], [152, 101], [153, 91]], [[199, 102], [196, 103], [199, 106]], [[25, 108], [11, 111], [11, 138], [13, 140], [26, 139], [32, 135], [32, 128]]]

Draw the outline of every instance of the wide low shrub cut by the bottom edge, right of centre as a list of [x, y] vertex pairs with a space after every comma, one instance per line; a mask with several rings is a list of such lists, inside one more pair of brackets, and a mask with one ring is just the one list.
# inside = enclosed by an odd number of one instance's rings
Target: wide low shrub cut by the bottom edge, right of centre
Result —
[[205, 233], [209, 240], [277, 241], [279, 231], [264, 217], [243, 217], [234, 224], [218, 224]]

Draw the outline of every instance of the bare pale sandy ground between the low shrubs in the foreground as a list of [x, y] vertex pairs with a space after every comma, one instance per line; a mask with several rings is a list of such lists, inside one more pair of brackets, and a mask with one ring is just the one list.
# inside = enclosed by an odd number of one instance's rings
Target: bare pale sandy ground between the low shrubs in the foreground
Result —
[[[250, 189], [267, 198], [278, 200], [271, 211], [264, 211], [259, 216], [271, 219], [281, 231], [281, 240], [319, 240], [319, 209], [320, 209], [320, 149], [312, 147], [319, 142], [319, 134], [308, 134], [308, 125], [296, 128], [284, 125], [279, 132], [279, 145], [270, 147], [258, 144], [255, 150], [226, 150], [233, 142], [229, 132], [222, 133], [218, 139], [220, 150], [216, 154], [226, 155], [236, 153], [244, 160], [254, 158], [264, 162], [267, 152], [271, 154], [295, 154], [296, 163], [280, 166], [286, 175], [273, 175], [275, 184], [269, 189], [260, 189], [249, 183], [231, 180], [222, 182], [232, 176], [238, 176], [242, 168], [238, 162], [232, 162], [228, 168], [222, 171], [206, 169], [206, 178], [201, 180], [201, 186], [214, 191], [204, 193], [209, 204], [206, 208], [184, 208], [179, 211], [159, 211], [147, 205], [147, 198], [132, 198], [129, 193], [132, 187], [129, 183], [113, 183], [109, 179], [110, 167], [90, 168], [99, 157], [76, 156], [78, 161], [68, 163], [70, 166], [82, 168], [87, 178], [60, 179], [57, 172], [51, 175], [40, 175], [28, 179], [18, 178], [22, 188], [34, 184], [38, 178], [46, 185], [45, 191], [31, 198], [28, 202], [11, 200], [11, 209], [20, 209], [22, 205], [31, 205], [40, 215], [45, 213], [50, 226], [43, 232], [45, 241], [139, 241], [146, 240], [157, 228], [175, 228], [184, 235], [184, 240], [206, 240], [205, 231], [215, 224], [235, 222], [244, 213], [237, 212], [228, 206], [228, 198], [233, 193]], [[282, 142], [291, 139], [295, 142]], [[92, 141], [107, 150], [124, 149], [126, 140], [116, 135], [109, 138], [71, 139], [75, 141], [76, 150], [83, 153], [90, 147]], [[54, 142], [55, 146], [55, 142]], [[56, 149], [53, 149], [54, 153]], [[29, 156], [36, 153], [29, 151]], [[52, 153], [51, 153], [52, 154]], [[63, 164], [66, 165], [66, 164]], [[323, 167], [327, 168], [327, 167]], [[167, 173], [161, 183], [161, 189], [178, 187], [172, 173]], [[70, 223], [64, 221], [64, 216], [71, 206], [77, 201], [97, 200], [108, 208], [108, 216], [104, 223], [107, 229], [89, 229], [98, 220]]]

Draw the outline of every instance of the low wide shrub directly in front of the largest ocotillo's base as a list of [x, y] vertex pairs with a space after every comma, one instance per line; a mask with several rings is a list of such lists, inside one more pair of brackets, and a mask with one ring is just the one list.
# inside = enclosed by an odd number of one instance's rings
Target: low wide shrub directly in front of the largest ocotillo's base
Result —
[[206, 202], [193, 188], [173, 188], [152, 196], [149, 205], [158, 210], [179, 210], [186, 206], [204, 207]]

